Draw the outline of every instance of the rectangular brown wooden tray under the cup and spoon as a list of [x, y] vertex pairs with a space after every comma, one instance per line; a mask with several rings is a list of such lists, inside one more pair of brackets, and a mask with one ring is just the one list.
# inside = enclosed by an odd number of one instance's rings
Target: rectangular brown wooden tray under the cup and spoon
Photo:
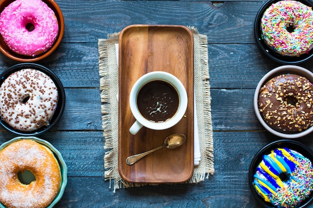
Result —
[[[119, 34], [118, 65], [118, 171], [129, 183], [182, 183], [193, 174], [193, 35], [184, 26], [130, 25]], [[129, 107], [129, 93], [134, 82], [151, 71], [166, 71], [176, 76], [188, 95], [185, 116], [166, 130], [142, 127], [129, 133], [135, 121]], [[186, 136], [176, 149], [162, 148], [129, 166], [130, 155], [163, 144], [174, 133]]]

